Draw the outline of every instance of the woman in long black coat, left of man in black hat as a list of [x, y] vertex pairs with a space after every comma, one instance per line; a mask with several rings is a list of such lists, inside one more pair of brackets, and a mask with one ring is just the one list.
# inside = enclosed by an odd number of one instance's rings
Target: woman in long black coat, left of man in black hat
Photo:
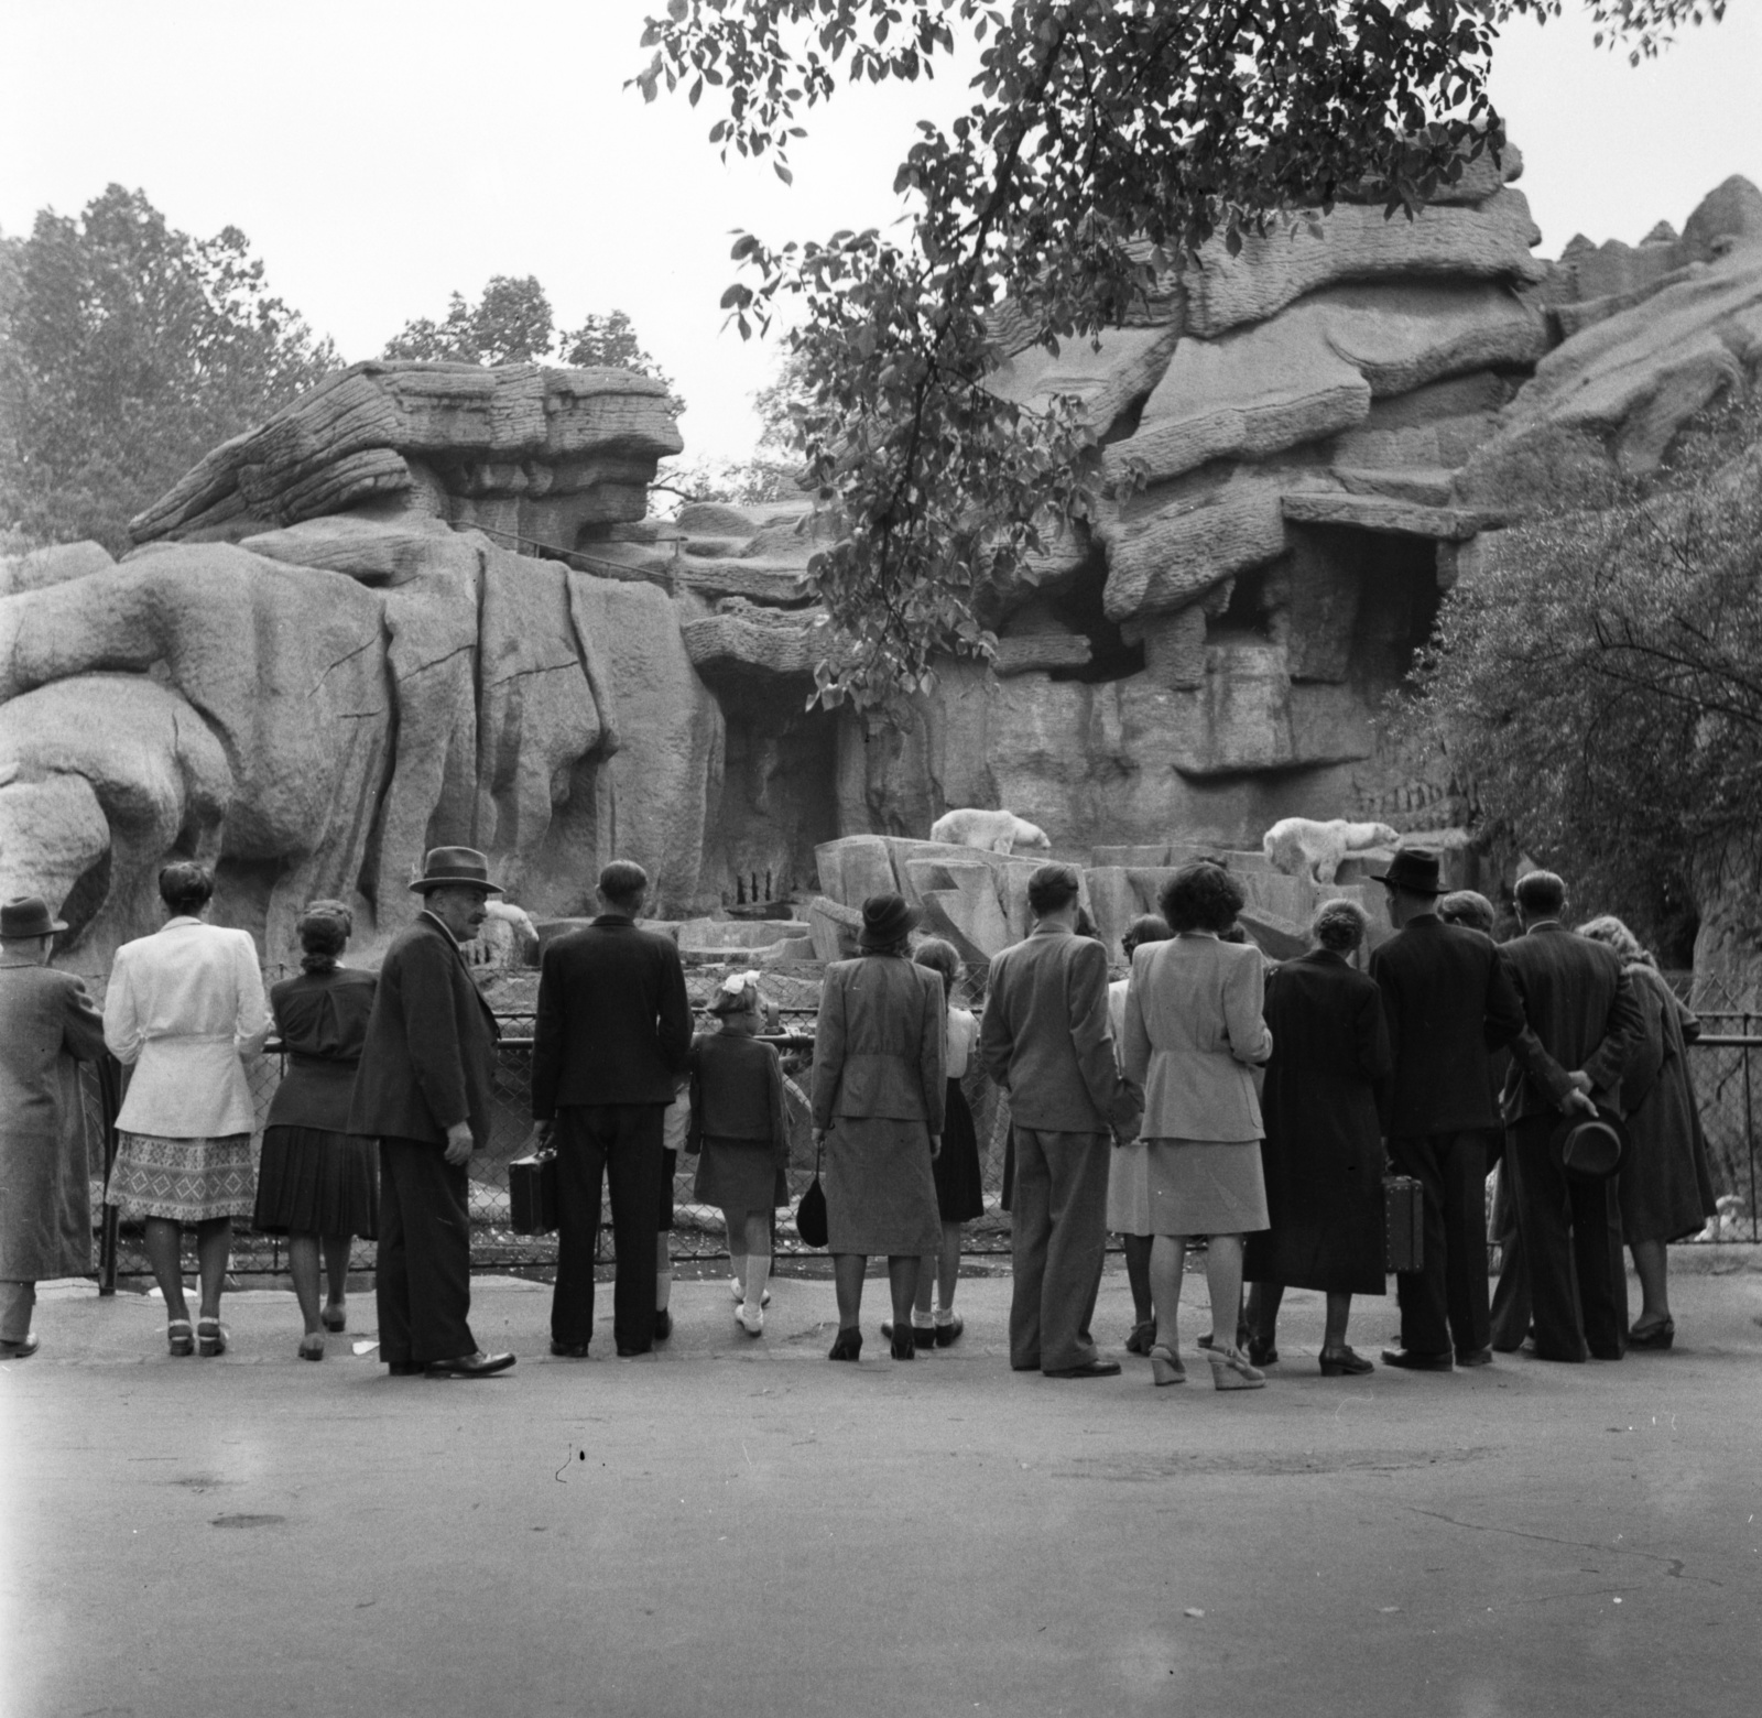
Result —
[[1260, 1101], [1270, 1228], [1249, 1235], [1242, 1270], [1255, 1285], [1249, 1359], [1277, 1359], [1284, 1290], [1320, 1288], [1323, 1378], [1374, 1369], [1346, 1346], [1346, 1320], [1355, 1293], [1387, 1292], [1378, 1112], [1394, 1064], [1378, 989], [1346, 960], [1364, 929], [1353, 902], [1327, 902], [1311, 925], [1316, 948], [1286, 960], [1267, 985], [1272, 1061]]

